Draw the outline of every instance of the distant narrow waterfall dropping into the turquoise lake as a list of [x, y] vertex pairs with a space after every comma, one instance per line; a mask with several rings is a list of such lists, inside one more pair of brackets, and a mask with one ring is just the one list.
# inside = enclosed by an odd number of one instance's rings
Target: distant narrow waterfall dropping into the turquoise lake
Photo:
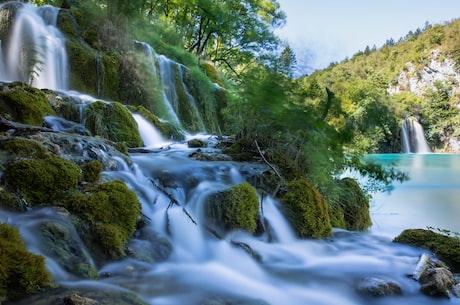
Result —
[[407, 117], [401, 128], [403, 153], [430, 153], [422, 125], [413, 117]]

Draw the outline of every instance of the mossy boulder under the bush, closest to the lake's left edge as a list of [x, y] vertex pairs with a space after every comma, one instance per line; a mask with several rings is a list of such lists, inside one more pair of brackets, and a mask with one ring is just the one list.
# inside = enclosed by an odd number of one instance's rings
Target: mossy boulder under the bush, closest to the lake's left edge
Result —
[[329, 209], [332, 226], [346, 230], [362, 231], [372, 225], [369, 198], [352, 178], [337, 182], [339, 198]]

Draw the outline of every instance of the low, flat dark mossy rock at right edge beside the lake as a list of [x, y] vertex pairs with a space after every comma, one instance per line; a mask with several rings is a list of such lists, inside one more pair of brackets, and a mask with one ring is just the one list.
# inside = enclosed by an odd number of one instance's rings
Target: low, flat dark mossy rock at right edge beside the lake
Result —
[[431, 230], [408, 229], [397, 236], [394, 242], [427, 248], [434, 252], [452, 270], [460, 272], [460, 239]]

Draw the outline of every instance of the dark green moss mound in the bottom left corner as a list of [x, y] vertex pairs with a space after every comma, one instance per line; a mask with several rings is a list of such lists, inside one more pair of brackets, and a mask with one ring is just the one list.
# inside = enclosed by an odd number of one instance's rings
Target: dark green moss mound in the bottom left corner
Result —
[[19, 231], [0, 224], [0, 299], [16, 299], [51, 285], [45, 258], [27, 251]]

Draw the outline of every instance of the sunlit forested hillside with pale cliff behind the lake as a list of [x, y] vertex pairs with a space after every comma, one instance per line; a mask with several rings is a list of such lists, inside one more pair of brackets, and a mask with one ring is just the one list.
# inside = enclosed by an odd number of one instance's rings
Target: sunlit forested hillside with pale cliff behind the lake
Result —
[[[399, 152], [400, 127], [415, 116], [433, 150], [458, 151], [460, 21], [426, 24], [397, 42], [366, 47], [352, 58], [299, 79], [306, 103], [335, 93], [342, 113], [327, 118], [334, 126], [351, 124], [354, 152]], [[332, 105], [331, 105], [332, 106]]]

